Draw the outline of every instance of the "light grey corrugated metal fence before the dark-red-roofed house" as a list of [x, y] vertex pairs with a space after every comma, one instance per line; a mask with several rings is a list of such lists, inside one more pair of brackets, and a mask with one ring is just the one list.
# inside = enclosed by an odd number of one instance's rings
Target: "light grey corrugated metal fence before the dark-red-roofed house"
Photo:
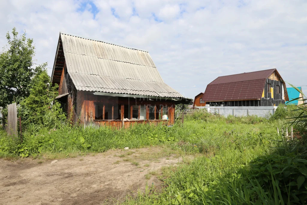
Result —
[[233, 116], [249, 116], [256, 115], [258, 117], [269, 118], [275, 113], [277, 106], [203, 106], [196, 107], [199, 109], [207, 109], [210, 113], [216, 113], [227, 117], [228, 115]]

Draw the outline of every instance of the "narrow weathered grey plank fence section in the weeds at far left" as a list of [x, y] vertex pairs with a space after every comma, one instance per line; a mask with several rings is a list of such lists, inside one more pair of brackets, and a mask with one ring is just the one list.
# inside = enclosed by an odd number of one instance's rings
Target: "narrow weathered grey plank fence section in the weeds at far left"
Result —
[[9, 136], [17, 136], [17, 106], [16, 103], [7, 105], [6, 132]]

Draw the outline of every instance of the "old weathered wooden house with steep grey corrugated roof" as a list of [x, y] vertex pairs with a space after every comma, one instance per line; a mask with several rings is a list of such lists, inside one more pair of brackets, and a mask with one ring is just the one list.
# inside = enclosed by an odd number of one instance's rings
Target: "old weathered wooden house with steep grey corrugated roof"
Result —
[[51, 81], [69, 119], [84, 126], [174, 124], [175, 104], [191, 102], [164, 83], [148, 52], [63, 33]]

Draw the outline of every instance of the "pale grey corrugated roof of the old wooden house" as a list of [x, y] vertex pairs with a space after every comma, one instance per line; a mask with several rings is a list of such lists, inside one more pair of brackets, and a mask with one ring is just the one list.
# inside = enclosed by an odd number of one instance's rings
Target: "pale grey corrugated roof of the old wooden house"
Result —
[[183, 97], [164, 83], [146, 51], [62, 33], [60, 39], [77, 90]]

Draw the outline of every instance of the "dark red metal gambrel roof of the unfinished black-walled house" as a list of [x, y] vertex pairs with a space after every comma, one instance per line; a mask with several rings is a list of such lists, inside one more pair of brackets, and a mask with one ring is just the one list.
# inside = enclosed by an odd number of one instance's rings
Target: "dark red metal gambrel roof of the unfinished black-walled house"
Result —
[[[268, 69], [218, 77], [207, 85], [203, 101], [260, 99], [266, 78], [270, 77], [274, 71], [277, 70]], [[284, 87], [286, 87], [285, 84]]]

